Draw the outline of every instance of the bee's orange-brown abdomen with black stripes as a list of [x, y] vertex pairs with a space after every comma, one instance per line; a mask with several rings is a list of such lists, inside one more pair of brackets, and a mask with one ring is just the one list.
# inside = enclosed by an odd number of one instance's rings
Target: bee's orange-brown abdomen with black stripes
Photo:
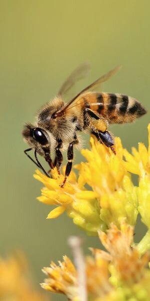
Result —
[[85, 93], [84, 106], [102, 115], [109, 123], [132, 122], [146, 113], [144, 107], [134, 98], [112, 93]]

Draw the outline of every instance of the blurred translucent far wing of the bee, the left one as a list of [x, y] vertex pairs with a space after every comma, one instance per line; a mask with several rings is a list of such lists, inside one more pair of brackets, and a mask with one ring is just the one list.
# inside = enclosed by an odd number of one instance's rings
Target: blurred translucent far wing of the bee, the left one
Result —
[[61, 96], [66, 94], [78, 80], [84, 78], [88, 74], [89, 70], [90, 65], [88, 63], [79, 65], [65, 80], [59, 89], [58, 94]]

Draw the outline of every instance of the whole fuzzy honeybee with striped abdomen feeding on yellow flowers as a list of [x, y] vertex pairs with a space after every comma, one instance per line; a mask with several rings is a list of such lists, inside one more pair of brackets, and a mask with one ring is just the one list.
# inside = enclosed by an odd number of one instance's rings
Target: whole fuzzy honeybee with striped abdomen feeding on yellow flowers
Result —
[[[73, 160], [73, 147], [77, 146], [78, 132], [88, 131], [97, 140], [109, 147], [115, 154], [114, 140], [107, 130], [108, 124], [132, 122], [146, 113], [144, 107], [134, 98], [118, 93], [92, 92], [114, 73], [119, 67], [110, 70], [92, 84], [81, 90], [69, 102], [64, 103], [65, 93], [74, 83], [85, 76], [88, 66], [83, 64], [75, 69], [60, 88], [58, 95], [37, 114], [34, 124], [26, 123], [22, 135], [30, 148], [24, 150], [25, 155], [49, 177], [38, 161], [37, 154], [44, 157], [49, 167], [60, 170], [63, 160], [63, 146], [67, 145], [67, 164], [65, 177], [60, 185], [63, 188], [70, 174]], [[34, 149], [35, 161], [28, 155]], [[55, 153], [52, 162], [51, 153]]]

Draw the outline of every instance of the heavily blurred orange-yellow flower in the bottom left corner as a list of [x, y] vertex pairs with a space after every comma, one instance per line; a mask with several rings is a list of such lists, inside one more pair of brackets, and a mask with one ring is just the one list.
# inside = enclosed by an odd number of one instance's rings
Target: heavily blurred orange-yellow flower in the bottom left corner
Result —
[[21, 253], [0, 258], [0, 300], [1, 301], [46, 301], [44, 294], [35, 290]]

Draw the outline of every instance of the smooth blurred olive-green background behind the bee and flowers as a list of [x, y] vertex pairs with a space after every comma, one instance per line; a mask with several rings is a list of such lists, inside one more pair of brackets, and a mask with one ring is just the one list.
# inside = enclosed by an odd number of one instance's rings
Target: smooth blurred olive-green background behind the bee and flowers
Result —
[[[23, 154], [23, 123], [32, 122], [67, 75], [86, 61], [92, 70], [77, 91], [120, 64], [122, 69], [103, 91], [133, 96], [149, 110], [149, 10], [146, 0], [0, 1], [0, 253], [24, 250], [37, 286], [44, 278], [43, 266], [63, 254], [71, 256], [70, 234], [84, 238], [86, 253], [99, 242], [86, 237], [65, 214], [45, 219], [51, 208], [36, 201], [41, 185], [32, 177], [35, 166]], [[148, 121], [149, 113], [134, 124], [110, 129], [130, 149], [138, 141], [147, 145]], [[76, 152], [76, 162], [80, 160]], [[141, 231], [139, 225], [137, 240]]]

